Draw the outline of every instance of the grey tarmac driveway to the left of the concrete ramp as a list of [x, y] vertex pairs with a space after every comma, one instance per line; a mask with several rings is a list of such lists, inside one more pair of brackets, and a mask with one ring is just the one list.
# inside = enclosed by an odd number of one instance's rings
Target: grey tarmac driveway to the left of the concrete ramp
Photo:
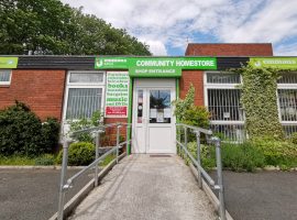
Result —
[[[68, 170], [68, 176], [79, 169]], [[0, 219], [47, 220], [58, 207], [61, 169], [0, 169]], [[94, 174], [82, 176], [66, 194], [68, 201]]]

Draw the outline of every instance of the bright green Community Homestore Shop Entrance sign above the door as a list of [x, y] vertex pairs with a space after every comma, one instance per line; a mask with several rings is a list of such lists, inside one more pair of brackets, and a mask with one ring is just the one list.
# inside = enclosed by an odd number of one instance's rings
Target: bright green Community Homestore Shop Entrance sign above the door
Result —
[[96, 69], [129, 69], [131, 77], [180, 77], [182, 69], [217, 69], [215, 57], [97, 57]]

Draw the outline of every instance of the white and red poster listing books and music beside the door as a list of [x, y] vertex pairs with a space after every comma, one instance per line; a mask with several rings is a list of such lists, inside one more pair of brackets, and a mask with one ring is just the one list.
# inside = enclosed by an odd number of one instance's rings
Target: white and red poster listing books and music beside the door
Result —
[[107, 73], [106, 118], [128, 118], [129, 81], [128, 72]]

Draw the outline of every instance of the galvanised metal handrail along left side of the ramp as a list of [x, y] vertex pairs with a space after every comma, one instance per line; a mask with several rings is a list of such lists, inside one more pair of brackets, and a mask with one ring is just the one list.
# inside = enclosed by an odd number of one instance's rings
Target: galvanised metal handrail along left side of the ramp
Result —
[[[103, 129], [106, 128], [117, 128], [117, 144], [112, 148], [110, 148], [108, 152], [106, 152], [103, 155], [99, 157], [99, 147], [100, 147], [100, 134], [103, 133]], [[127, 140], [122, 143], [120, 143], [120, 128], [127, 127]], [[113, 152], [117, 152], [116, 161], [119, 163], [119, 148], [121, 148], [124, 144], [131, 144], [132, 140], [129, 139], [129, 129], [131, 128], [131, 123], [111, 123], [111, 124], [103, 124], [98, 127], [92, 127], [88, 129], [81, 129], [79, 131], [75, 131], [70, 133], [70, 138], [65, 136], [64, 143], [63, 143], [63, 162], [62, 162], [62, 170], [61, 170], [61, 185], [59, 185], [59, 198], [58, 198], [58, 215], [57, 219], [63, 220], [64, 218], [64, 200], [65, 200], [65, 194], [66, 191], [73, 187], [74, 182], [79, 178], [82, 174], [85, 174], [90, 168], [95, 167], [95, 187], [98, 186], [98, 164], [103, 158], [106, 158], [108, 155], [112, 154]], [[81, 170], [76, 173], [74, 176], [68, 178], [65, 182], [66, 173], [67, 173], [67, 163], [68, 163], [68, 147], [72, 142], [74, 142], [74, 138], [76, 138], [78, 134], [86, 133], [86, 132], [95, 132], [95, 142], [96, 142], [96, 158], [95, 161], [89, 164], [88, 166], [84, 167]]]

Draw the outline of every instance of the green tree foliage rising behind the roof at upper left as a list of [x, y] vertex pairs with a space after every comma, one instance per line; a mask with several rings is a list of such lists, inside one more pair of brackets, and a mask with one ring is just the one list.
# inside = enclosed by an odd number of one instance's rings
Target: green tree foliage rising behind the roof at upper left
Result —
[[0, 54], [151, 55], [147, 45], [59, 0], [0, 1]]

